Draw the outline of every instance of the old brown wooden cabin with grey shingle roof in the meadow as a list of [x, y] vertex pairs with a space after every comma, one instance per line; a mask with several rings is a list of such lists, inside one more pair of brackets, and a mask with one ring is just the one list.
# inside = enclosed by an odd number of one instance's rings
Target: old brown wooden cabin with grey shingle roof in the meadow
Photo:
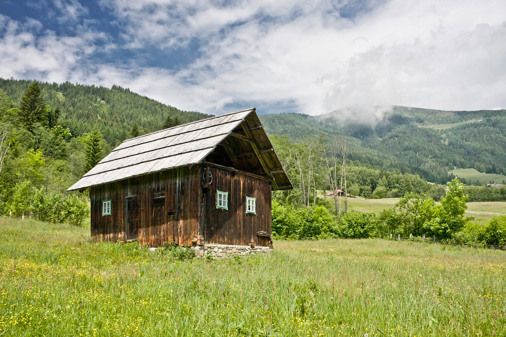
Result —
[[68, 190], [86, 188], [94, 242], [268, 246], [292, 185], [252, 108], [126, 139]]

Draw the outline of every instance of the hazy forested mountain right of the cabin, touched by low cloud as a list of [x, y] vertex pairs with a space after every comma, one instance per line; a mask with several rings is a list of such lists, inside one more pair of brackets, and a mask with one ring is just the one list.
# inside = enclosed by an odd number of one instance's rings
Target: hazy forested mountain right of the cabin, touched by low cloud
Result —
[[320, 116], [262, 115], [268, 133], [286, 134], [291, 141], [320, 133], [346, 135], [355, 165], [418, 173], [444, 182], [447, 171], [475, 168], [506, 172], [506, 110], [438, 111], [394, 106], [379, 118], [355, 122], [360, 112], [336, 110]]

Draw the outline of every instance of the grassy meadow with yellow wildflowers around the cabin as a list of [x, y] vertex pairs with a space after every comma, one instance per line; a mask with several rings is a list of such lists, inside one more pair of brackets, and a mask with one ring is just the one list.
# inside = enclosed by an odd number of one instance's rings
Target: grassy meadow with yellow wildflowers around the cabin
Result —
[[6, 219], [0, 238], [0, 336], [506, 335], [504, 251], [326, 239], [180, 261]]

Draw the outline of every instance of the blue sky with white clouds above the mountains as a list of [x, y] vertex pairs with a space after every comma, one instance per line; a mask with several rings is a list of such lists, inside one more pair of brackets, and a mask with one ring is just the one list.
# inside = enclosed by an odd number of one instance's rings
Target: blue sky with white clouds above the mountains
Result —
[[184, 110], [506, 108], [504, 0], [0, 0], [0, 77]]

